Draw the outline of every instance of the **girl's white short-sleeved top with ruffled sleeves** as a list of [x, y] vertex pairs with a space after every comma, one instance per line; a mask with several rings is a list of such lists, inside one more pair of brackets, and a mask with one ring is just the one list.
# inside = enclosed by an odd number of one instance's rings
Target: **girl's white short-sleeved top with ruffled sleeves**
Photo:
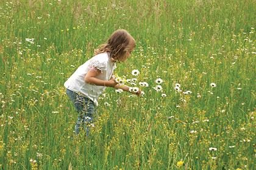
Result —
[[108, 53], [99, 53], [79, 66], [73, 75], [64, 83], [64, 86], [77, 94], [90, 98], [98, 106], [98, 97], [104, 92], [105, 86], [85, 83], [84, 77], [91, 67], [101, 70], [101, 73], [96, 78], [110, 80], [113, 70], [116, 69], [116, 64], [111, 61]]

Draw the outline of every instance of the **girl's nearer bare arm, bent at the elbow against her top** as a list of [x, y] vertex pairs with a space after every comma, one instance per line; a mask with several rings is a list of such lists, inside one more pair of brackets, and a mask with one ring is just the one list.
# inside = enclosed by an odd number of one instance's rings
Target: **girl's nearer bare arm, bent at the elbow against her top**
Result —
[[85, 83], [94, 84], [96, 86], [106, 86], [106, 87], [115, 87], [116, 84], [118, 84], [113, 79], [100, 80], [99, 78], [96, 78], [99, 74], [101, 74], [100, 70], [96, 68], [90, 69], [85, 75], [85, 78], [84, 78]]

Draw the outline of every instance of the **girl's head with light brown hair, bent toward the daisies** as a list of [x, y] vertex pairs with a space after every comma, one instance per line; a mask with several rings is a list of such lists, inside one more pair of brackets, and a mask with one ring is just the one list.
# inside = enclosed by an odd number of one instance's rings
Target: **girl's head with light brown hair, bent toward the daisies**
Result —
[[126, 61], [132, 50], [135, 48], [135, 40], [126, 30], [116, 30], [108, 38], [107, 43], [99, 46], [95, 55], [103, 52], [110, 52], [115, 61]]

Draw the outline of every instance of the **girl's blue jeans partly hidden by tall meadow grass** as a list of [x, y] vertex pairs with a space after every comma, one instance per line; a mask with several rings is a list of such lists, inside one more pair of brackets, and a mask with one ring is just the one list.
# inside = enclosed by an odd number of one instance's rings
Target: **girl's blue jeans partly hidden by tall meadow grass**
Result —
[[75, 126], [76, 134], [79, 134], [80, 127], [82, 126], [88, 136], [89, 127], [91, 126], [91, 121], [93, 121], [93, 113], [95, 109], [93, 101], [90, 100], [90, 98], [79, 95], [69, 89], [66, 89], [66, 94], [74, 104], [74, 107], [79, 114]]

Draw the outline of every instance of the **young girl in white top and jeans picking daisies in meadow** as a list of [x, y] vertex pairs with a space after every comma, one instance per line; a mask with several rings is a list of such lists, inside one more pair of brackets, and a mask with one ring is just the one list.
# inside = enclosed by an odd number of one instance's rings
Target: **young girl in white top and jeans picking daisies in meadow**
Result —
[[[116, 83], [112, 78], [116, 69], [116, 62], [124, 62], [135, 48], [135, 40], [126, 30], [116, 30], [107, 43], [95, 50], [93, 58], [86, 61], [68, 78], [64, 86], [66, 94], [74, 103], [79, 116], [76, 121], [75, 132], [79, 134], [80, 127], [84, 127], [88, 135], [88, 125], [93, 120], [98, 97], [105, 87], [123, 89], [129, 92], [129, 86]], [[136, 95], [140, 95], [138, 90]]]

